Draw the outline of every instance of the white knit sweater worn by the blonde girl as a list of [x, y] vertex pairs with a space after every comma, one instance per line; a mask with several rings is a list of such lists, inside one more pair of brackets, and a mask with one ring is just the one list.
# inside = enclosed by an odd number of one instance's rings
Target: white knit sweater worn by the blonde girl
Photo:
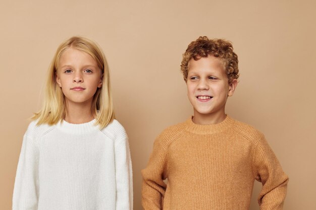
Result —
[[13, 210], [130, 210], [128, 137], [114, 120], [83, 124], [30, 123], [21, 149]]

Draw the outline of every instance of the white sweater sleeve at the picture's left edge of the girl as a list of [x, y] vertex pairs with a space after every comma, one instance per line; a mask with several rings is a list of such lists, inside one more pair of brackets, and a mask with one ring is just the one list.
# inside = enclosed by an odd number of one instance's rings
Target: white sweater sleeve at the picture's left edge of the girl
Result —
[[13, 210], [35, 210], [38, 202], [38, 148], [24, 135], [13, 191]]

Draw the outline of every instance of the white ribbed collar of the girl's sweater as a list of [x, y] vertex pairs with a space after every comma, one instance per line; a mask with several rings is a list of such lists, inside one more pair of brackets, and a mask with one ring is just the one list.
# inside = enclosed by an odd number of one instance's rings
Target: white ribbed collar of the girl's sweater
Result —
[[62, 120], [61, 122], [57, 123], [56, 127], [66, 133], [83, 134], [99, 129], [99, 127], [95, 125], [95, 122], [96, 120], [93, 119], [90, 122], [86, 123], [72, 124], [65, 120]]

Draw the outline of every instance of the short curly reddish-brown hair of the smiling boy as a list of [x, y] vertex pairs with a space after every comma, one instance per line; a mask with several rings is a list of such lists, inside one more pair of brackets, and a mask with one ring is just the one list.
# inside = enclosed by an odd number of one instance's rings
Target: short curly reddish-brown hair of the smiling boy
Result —
[[188, 45], [182, 56], [181, 72], [185, 82], [188, 79], [189, 61], [192, 58], [198, 60], [201, 57], [207, 57], [209, 54], [219, 57], [223, 61], [229, 83], [234, 79], [238, 79], [238, 56], [233, 52], [232, 43], [224, 39], [208, 39], [206, 36], [200, 36]]

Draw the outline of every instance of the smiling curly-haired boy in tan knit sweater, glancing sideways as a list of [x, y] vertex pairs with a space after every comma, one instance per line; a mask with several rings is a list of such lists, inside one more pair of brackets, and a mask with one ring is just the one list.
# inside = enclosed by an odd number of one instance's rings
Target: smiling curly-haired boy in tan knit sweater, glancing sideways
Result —
[[246, 210], [255, 179], [262, 182], [260, 209], [282, 209], [288, 177], [264, 135], [225, 114], [239, 76], [232, 44], [199, 37], [181, 71], [194, 116], [155, 140], [142, 170], [144, 209]]

